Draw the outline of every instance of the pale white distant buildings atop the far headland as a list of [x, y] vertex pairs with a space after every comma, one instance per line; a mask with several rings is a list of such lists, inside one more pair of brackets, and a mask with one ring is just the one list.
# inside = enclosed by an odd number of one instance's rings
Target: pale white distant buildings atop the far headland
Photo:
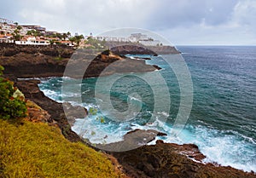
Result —
[[154, 40], [142, 33], [132, 33], [130, 37], [94, 37], [100, 41], [106, 42], [131, 42], [131, 43], [142, 43], [145, 46], [158, 46], [161, 45], [159, 40]]

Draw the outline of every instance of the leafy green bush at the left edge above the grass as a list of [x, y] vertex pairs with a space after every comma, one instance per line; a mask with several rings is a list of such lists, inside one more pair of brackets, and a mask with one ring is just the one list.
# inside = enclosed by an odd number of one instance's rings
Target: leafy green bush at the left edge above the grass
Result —
[[14, 87], [14, 83], [3, 78], [3, 66], [0, 66], [0, 118], [26, 117], [24, 95]]

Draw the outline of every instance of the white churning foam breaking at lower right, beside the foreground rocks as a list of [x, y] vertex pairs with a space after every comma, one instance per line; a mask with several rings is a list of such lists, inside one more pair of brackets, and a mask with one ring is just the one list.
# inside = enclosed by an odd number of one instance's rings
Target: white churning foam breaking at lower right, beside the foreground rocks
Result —
[[[168, 136], [165, 142], [177, 144], [194, 143], [207, 156], [206, 163], [217, 162], [245, 171], [256, 171], [256, 145], [248, 143], [241, 135], [227, 135], [216, 129], [203, 126], [183, 132], [174, 138]], [[151, 143], [152, 144], [152, 143]]]

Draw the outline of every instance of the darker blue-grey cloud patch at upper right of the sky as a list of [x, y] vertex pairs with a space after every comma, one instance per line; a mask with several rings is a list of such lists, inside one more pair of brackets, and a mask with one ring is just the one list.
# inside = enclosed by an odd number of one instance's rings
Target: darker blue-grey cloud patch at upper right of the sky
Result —
[[230, 20], [237, 2], [238, 0], [197, 0], [193, 3], [189, 0], [164, 0], [148, 17], [148, 26], [156, 29], [187, 27], [202, 21], [210, 26], [220, 25]]

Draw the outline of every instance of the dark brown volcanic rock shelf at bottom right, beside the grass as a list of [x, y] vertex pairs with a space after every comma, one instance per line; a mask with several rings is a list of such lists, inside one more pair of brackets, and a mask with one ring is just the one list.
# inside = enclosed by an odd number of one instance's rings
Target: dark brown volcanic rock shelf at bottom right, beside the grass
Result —
[[[123, 165], [127, 175], [137, 178], [256, 177], [253, 173], [245, 173], [231, 167], [196, 163], [184, 152], [199, 154], [197, 146], [193, 144], [179, 146], [166, 144], [163, 141], [157, 141], [156, 145], [142, 146], [131, 151], [113, 152], [112, 154]], [[204, 158], [203, 155], [202, 158]]]

